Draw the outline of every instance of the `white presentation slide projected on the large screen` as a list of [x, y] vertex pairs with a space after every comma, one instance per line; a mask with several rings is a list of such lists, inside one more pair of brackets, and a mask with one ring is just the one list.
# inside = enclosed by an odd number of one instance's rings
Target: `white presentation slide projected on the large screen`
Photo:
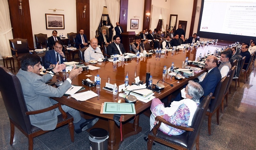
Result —
[[255, 37], [256, 0], [203, 0], [198, 31]]

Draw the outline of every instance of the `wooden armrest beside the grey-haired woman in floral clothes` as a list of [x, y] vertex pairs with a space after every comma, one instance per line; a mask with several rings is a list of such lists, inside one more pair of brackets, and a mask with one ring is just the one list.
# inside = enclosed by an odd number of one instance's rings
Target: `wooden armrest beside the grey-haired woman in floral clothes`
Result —
[[185, 130], [185, 131], [194, 131], [194, 128], [189, 128], [189, 127], [185, 127], [185, 126], [178, 126], [178, 125], [173, 125], [170, 122], [164, 120], [164, 118], [160, 117], [160, 116], [156, 116], [155, 118], [156, 121], [159, 121], [158, 124], [153, 128], [153, 134], [156, 135], [157, 130], [159, 129], [161, 123], [164, 123], [166, 125], [169, 125], [171, 127], [174, 127], [176, 129], [180, 129], [180, 130]]

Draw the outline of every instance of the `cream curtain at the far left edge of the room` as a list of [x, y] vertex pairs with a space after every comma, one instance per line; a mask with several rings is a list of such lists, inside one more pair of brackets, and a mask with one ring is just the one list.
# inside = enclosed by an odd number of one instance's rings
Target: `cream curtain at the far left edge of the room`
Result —
[[0, 20], [0, 58], [2, 58], [2, 56], [11, 55], [9, 39], [13, 39], [7, 0], [0, 1]]

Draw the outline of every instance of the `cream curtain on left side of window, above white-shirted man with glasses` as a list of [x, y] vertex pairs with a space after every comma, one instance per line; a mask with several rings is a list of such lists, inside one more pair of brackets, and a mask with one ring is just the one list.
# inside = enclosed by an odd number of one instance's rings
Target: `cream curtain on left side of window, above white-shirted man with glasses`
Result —
[[95, 38], [103, 11], [102, 0], [90, 0], [90, 39]]

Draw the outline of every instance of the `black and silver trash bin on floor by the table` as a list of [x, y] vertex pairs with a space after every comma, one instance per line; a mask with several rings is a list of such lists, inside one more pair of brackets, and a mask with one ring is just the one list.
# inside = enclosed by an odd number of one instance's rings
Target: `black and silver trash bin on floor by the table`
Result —
[[102, 128], [90, 130], [90, 150], [107, 150], [108, 149], [108, 131]]

